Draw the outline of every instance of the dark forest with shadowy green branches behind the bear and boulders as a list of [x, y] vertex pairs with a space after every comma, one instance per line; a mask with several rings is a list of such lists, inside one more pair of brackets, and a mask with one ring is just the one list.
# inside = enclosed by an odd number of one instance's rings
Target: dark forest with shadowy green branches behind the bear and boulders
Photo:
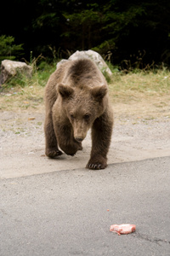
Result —
[[52, 61], [94, 49], [113, 65], [170, 66], [167, 0], [3, 1], [0, 24], [1, 59]]

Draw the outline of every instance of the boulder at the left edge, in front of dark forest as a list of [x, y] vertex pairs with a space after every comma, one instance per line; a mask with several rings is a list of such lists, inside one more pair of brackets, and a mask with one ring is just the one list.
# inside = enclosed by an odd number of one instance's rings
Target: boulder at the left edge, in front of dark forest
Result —
[[1, 63], [0, 84], [4, 84], [8, 79], [14, 77], [17, 73], [25, 74], [31, 77], [32, 67], [25, 62], [4, 60]]

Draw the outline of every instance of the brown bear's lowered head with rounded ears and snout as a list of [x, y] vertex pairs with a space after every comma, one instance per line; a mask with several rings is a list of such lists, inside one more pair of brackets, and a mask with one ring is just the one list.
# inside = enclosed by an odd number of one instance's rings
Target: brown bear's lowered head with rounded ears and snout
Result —
[[73, 88], [59, 84], [58, 91], [63, 102], [62, 107], [71, 122], [74, 137], [78, 142], [82, 142], [94, 120], [105, 111], [107, 86], [101, 84]]

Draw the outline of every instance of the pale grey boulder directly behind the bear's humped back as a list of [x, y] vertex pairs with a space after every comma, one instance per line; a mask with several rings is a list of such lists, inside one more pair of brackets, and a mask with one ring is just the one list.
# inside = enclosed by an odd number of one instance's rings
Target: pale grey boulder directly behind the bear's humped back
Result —
[[105, 72], [108, 73], [109, 75], [112, 74], [111, 69], [107, 66], [107, 64], [105, 63], [102, 56], [99, 55], [99, 53], [97, 53], [96, 51], [94, 51], [92, 49], [82, 50], [82, 51], [77, 50], [73, 55], [71, 55], [69, 57], [68, 60], [59, 61], [59, 63], [57, 64], [57, 68], [59, 67], [59, 65], [61, 63], [65, 62], [65, 61], [75, 61], [77, 59], [83, 59], [83, 58], [91, 59], [98, 65], [98, 67], [101, 71], [105, 70]]

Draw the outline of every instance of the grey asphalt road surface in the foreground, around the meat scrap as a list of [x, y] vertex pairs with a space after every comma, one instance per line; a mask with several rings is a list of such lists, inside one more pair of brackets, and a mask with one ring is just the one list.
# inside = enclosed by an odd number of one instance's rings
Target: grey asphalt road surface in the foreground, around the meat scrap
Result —
[[1, 256], [170, 255], [170, 157], [6, 178], [0, 196]]

